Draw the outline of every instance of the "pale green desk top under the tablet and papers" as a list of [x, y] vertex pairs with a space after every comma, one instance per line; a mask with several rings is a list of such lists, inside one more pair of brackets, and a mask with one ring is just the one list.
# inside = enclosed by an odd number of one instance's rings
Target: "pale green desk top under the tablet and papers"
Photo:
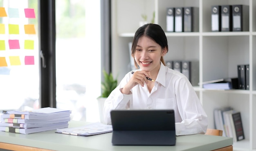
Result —
[[[69, 127], [85, 124], [88, 123], [72, 121]], [[232, 138], [195, 134], [177, 136], [175, 146], [113, 146], [112, 133], [85, 137], [54, 132], [55, 130], [28, 135], [0, 132], [0, 142], [57, 151], [210, 151], [233, 144]]]

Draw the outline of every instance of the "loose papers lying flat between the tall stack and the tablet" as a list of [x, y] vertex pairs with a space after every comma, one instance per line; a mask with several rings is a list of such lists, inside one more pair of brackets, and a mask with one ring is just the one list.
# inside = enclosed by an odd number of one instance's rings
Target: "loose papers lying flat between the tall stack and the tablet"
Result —
[[83, 127], [57, 129], [56, 133], [63, 133], [68, 135], [90, 136], [103, 133], [112, 132], [112, 125], [102, 124], [100, 122], [85, 125]]

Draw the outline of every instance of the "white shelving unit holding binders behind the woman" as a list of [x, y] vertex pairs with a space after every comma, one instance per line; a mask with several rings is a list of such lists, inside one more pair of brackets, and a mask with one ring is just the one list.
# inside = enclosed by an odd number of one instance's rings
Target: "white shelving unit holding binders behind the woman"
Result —
[[[211, 32], [211, 6], [249, 5], [249, 31]], [[199, 60], [199, 81], [237, 77], [238, 64], [250, 64], [249, 90], [206, 90], [195, 87], [214, 128], [213, 109], [231, 106], [241, 112], [245, 140], [234, 150], [256, 151], [256, 0], [112, 0], [112, 73], [120, 80], [130, 71], [128, 42], [142, 21], [155, 11], [155, 23], [166, 31], [168, 7], [199, 7], [199, 32], [166, 32], [169, 51], [165, 60]], [[126, 68], [127, 67], [127, 68]]]

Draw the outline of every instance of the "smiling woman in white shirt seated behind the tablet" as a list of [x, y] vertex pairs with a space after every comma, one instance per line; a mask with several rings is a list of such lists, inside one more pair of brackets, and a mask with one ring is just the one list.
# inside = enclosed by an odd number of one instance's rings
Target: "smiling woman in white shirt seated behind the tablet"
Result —
[[113, 109], [173, 109], [176, 135], [206, 132], [208, 120], [200, 100], [182, 73], [165, 66], [167, 52], [167, 38], [159, 25], [145, 24], [136, 31], [132, 57], [140, 69], [127, 73], [105, 101], [107, 124]]

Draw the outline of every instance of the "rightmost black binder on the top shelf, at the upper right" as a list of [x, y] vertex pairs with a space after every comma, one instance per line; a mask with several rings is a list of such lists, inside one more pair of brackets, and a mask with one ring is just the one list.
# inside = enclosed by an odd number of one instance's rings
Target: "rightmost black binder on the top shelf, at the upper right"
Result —
[[232, 5], [233, 31], [249, 31], [249, 6]]

